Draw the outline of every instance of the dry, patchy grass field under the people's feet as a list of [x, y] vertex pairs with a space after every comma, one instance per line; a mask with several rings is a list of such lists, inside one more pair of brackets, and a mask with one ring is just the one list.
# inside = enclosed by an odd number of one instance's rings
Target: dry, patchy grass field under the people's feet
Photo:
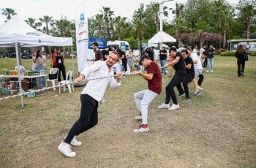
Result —
[[[15, 62], [0, 58], [0, 69], [13, 69]], [[31, 69], [31, 60], [23, 65]], [[71, 60], [66, 66], [71, 69]], [[25, 107], [17, 98], [0, 102], [0, 167], [256, 167], [256, 58], [246, 62], [244, 77], [237, 77], [235, 58], [217, 56], [214, 67], [214, 73], [204, 73], [202, 94], [186, 103], [178, 98], [180, 109], [173, 112], [157, 108], [170, 81], [163, 76], [145, 134], [132, 130], [140, 125], [133, 119], [133, 94], [146, 81], [123, 78], [121, 88], [105, 93], [98, 125], [78, 136], [83, 145], [72, 147], [74, 159], [57, 147], [79, 117], [83, 88], [72, 94], [45, 91], [25, 98]]]

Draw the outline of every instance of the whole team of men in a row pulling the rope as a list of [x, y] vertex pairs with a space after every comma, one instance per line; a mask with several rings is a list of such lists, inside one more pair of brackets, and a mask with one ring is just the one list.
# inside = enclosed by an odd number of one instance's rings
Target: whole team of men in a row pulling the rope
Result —
[[[105, 51], [103, 51], [105, 53]], [[166, 52], [167, 53], [167, 52]], [[161, 53], [166, 55], [165, 52]], [[87, 131], [92, 127], [97, 125], [98, 122], [98, 112], [97, 107], [99, 102], [105, 102], [103, 98], [106, 88], [110, 85], [111, 88], [116, 88], [121, 85], [121, 73], [117, 73], [116, 78], [112, 75], [113, 65], [118, 62], [119, 58], [124, 56], [123, 53], [113, 51], [105, 57], [104, 60], [95, 61], [94, 64], [89, 66], [80, 73], [80, 76], [75, 79], [75, 83], [80, 84], [84, 79], [91, 76], [102, 77], [100, 80], [89, 80], [89, 83], [83, 88], [80, 95], [81, 109], [80, 118], [76, 121], [69, 133], [64, 138], [64, 140], [59, 144], [58, 149], [67, 157], [75, 157], [76, 153], [71, 150], [72, 146], [80, 146], [80, 142], [77, 137], [83, 131]], [[202, 61], [208, 56], [208, 52], [204, 51], [202, 57], [199, 58], [197, 55], [192, 54], [192, 49], [190, 47], [184, 48], [181, 52], [176, 50], [176, 47], [171, 47], [169, 56], [171, 57], [170, 63], [165, 64], [165, 68], [168, 66], [173, 66], [176, 70], [170, 83], [165, 87], [165, 102], [159, 106], [159, 108], [168, 108], [168, 110], [176, 110], [179, 108], [178, 101], [176, 98], [176, 93], [174, 87], [177, 86], [179, 96], [186, 95], [189, 100], [189, 88], [188, 84], [193, 82], [195, 85], [194, 96], [199, 96], [199, 87], [203, 82], [203, 67]], [[102, 58], [103, 59], [103, 58]], [[134, 94], [135, 104], [138, 108], [139, 115], [135, 117], [136, 120], [141, 120], [141, 124], [138, 129], [134, 129], [135, 133], [149, 131], [148, 128], [148, 105], [162, 92], [162, 74], [157, 61], [152, 61], [148, 54], [144, 53], [140, 56], [140, 64], [146, 68], [146, 73], [141, 71], [134, 71], [133, 75], [138, 75], [147, 80], [148, 87], [143, 91], [139, 91]], [[195, 77], [200, 79], [197, 81]], [[183, 88], [181, 86], [183, 85]], [[203, 89], [203, 88], [201, 88]], [[173, 105], [170, 106], [170, 99], [173, 101]]]

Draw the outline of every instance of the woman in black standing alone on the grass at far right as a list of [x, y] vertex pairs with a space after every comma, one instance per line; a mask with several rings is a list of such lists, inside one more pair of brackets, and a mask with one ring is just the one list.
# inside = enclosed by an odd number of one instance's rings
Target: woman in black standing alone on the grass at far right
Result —
[[244, 61], [244, 54], [246, 54], [243, 45], [239, 45], [238, 48], [236, 49], [236, 58], [237, 58], [237, 74], [238, 77], [241, 77], [241, 75], [244, 77], [244, 66], [245, 66], [245, 61]]

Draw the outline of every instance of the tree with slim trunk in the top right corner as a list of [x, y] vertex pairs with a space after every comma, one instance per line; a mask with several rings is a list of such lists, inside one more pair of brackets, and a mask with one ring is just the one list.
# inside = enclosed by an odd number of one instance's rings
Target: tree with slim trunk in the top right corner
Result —
[[252, 20], [256, 16], [256, 2], [251, 0], [239, 1], [238, 10], [240, 12], [241, 20], [246, 23], [246, 39], [250, 38]]

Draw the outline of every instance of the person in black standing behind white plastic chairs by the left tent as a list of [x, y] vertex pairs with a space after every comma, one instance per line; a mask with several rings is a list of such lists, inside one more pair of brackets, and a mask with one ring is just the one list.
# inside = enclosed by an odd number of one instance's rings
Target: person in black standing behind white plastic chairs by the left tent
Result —
[[64, 54], [61, 53], [61, 50], [56, 50], [56, 67], [59, 69], [59, 76], [58, 81], [61, 82], [61, 73], [63, 80], [66, 80], [66, 69], [65, 69], [65, 60], [64, 60]]

